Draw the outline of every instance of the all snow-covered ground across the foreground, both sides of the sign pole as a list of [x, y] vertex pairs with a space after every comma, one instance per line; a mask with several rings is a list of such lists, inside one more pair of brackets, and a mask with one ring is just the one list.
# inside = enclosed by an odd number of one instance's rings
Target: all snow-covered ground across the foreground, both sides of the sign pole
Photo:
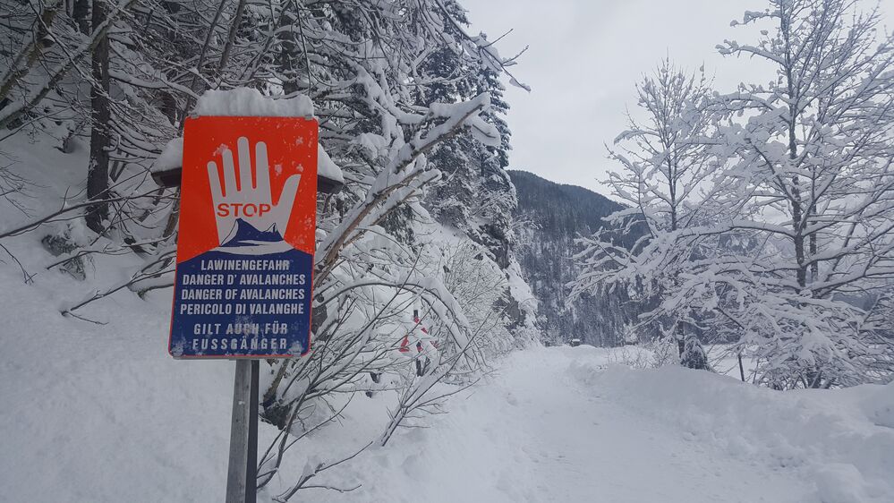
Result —
[[[21, 169], [45, 168], [31, 172], [33, 215], [57, 208], [66, 180], [80, 183], [72, 166], [83, 162], [13, 147]], [[0, 228], [21, 219], [0, 200]], [[79, 281], [46, 269], [55, 260], [39, 243], [47, 232], [0, 243], [35, 275], [26, 285], [0, 252], [0, 501], [222, 501], [234, 364], [166, 354], [169, 289], [146, 300], [124, 290], [79, 311], [98, 323], [63, 317], [63, 306], [139, 262], [104, 256]], [[588, 346], [515, 352], [428, 428], [401, 431], [315, 479], [359, 489], [297, 499], [894, 502], [894, 385], [782, 394], [618, 364], [648, 359]], [[378, 438], [394, 402], [387, 392], [358, 396], [340, 422], [296, 445], [260, 500], [294, 483], [308, 457], [334, 461]], [[274, 434], [260, 425], [262, 448]]]

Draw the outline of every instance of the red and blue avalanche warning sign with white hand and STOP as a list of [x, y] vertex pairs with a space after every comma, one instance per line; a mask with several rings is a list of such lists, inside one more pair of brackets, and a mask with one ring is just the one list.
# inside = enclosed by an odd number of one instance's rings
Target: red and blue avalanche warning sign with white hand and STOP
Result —
[[174, 312], [175, 358], [305, 354], [317, 214], [317, 123], [187, 120]]

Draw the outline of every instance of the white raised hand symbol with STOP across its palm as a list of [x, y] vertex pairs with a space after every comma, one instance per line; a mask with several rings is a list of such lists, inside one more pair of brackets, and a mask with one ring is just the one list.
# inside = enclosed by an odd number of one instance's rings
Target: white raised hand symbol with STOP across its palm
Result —
[[[226, 237], [234, 230], [237, 218], [266, 231], [276, 225], [280, 235], [285, 235], [285, 226], [292, 215], [295, 193], [301, 175], [289, 176], [279, 194], [279, 200], [273, 204], [270, 193], [270, 166], [267, 161], [267, 144], [259, 141], [255, 144], [255, 183], [251, 180], [251, 149], [248, 138], [244, 136], [236, 141], [239, 150], [239, 168], [233, 162], [233, 151], [223, 146], [221, 155], [224, 161], [224, 183], [220, 183], [217, 174], [217, 163], [208, 163], [208, 181], [211, 185], [211, 200], [214, 201], [214, 215], [217, 218], [217, 237], [224, 243]], [[236, 185], [238, 176], [239, 184]]]

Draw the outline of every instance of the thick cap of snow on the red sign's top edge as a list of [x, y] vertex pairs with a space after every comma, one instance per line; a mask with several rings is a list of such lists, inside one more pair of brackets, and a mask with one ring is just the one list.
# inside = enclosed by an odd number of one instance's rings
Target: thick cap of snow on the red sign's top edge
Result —
[[196, 115], [309, 117], [313, 115], [311, 98], [270, 98], [251, 88], [208, 90], [199, 98]]

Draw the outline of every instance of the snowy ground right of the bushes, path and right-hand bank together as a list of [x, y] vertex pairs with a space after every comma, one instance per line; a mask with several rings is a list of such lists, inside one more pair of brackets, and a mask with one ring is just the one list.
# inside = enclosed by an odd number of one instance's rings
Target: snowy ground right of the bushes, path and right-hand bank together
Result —
[[894, 386], [784, 396], [678, 368], [604, 370], [608, 359], [588, 346], [513, 354], [430, 429], [400, 439], [401, 454], [351, 465], [362, 489], [320, 498], [894, 501]]

